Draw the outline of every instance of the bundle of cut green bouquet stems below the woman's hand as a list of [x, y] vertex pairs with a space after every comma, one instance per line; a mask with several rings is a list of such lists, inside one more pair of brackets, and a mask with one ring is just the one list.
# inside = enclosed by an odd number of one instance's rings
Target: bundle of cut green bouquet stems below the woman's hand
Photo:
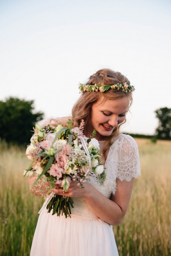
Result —
[[46, 209], [48, 210], [48, 213], [53, 210], [52, 215], [57, 214], [57, 216], [60, 216], [65, 214], [65, 217], [71, 218], [71, 208], [73, 207], [73, 200], [71, 197], [65, 197], [60, 195], [55, 195], [47, 204]]

